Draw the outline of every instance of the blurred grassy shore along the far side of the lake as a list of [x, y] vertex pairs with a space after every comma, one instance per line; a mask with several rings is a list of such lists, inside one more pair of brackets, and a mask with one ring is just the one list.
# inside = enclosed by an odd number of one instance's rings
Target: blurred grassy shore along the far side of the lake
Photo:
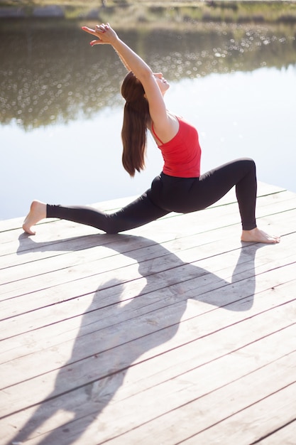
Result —
[[21, 8], [29, 17], [36, 8], [53, 4], [64, 18], [88, 17], [121, 27], [158, 22], [296, 23], [296, 1], [0, 0], [0, 8]]

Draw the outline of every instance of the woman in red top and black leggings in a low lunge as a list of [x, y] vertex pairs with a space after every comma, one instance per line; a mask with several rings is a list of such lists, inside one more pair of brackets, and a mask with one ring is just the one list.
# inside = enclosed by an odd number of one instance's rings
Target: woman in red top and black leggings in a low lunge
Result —
[[122, 141], [122, 161], [131, 176], [144, 167], [146, 133], [150, 130], [160, 148], [164, 167], [151, 188], [140, 198], [111, 215], [87, 207], [64, 207], [33, 201], [23, 223], [29, 235], [33, 225], [43, 218], [61, 218], [92, 225], [107, 233], [123, 232], [156, 220], [169, 212], [188, 213], [207, 208], [233, 186], [242, 223], [242, 241], [279, 242], [256, 226], [256, 166], [251, 159], [236, 161], [215, 168], [200, 176], [199, 139], [197, 130], [181, 117], [170, 113], [163, 100], [170, 87], [161, 73], [153, 73], [148, 65], [119, 39], [109, 23], [83, 31], [97, 39], [90, 44], [109, 44], [128, 69], [121, 87], [126, 100]]

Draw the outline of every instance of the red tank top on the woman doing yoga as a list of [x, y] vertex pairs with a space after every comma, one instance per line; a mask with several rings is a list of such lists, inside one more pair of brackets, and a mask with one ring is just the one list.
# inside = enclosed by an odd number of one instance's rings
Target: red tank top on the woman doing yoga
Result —
[[200, 175], [200, 158], [202, 151], [199, 146], [197, 129], [181, 117], [177, 117], [179, 130], [168, 142], [163, 144], [153, 129], [154, 136], [161, 142], [158, 148], [163, 155], [163, 173], [178, 178], [197, 178]]

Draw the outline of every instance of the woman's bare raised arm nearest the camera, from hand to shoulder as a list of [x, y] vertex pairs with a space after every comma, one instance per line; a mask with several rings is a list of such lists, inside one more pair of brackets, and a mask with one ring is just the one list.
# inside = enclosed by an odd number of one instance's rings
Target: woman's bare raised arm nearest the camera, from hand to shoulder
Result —
[[118, 53], [122, 62], [131, 70], [133, 74], [141, 81], [146, 93], [146, 98], [149, 104], [150, 117], [155, 125], [155, 131], [160, 138], [170, 139], [175, 135], [175, 127], [172, 119], [168, 117], [168, 113], [163, 100], [163, 94], [160, 91], [158, 82], [147, 63], [129, 48], [124, 41], [121, 41], [116, 32], [111, 28], [109, 23], [106, 25], [97, 25], [95, 29], [84, 26], [83, 31], [86, 31], [92, 36], [97, 37], [96, 40], [90, 42], [93, 45], [109, 44], [116, 53]]

